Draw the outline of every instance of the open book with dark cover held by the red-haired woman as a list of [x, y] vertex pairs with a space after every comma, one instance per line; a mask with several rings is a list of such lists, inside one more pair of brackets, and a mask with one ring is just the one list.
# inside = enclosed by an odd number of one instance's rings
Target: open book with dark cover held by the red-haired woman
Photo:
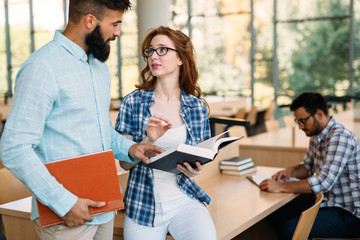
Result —
[[244, 137], [223, 137], [226, 133], [227, 131], [195, 146], [179, 144], [152, 157], [151, 163], [146, 166], [175, 174], [180, 173], [176, 169], [177, 164], [188, 162], [196, 168], [196, 162], [205, 164], [212, 161], [220, 149]]

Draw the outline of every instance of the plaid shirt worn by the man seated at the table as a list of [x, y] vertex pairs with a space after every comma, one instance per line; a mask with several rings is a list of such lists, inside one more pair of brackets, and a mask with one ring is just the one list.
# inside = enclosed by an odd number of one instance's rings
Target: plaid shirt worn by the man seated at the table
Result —
[[304, 158], [314, 193], [323, 192], [322, 207], [340, 207], [360, 218], [360, 144], [356, 136], [331, 118], [310, 138]]

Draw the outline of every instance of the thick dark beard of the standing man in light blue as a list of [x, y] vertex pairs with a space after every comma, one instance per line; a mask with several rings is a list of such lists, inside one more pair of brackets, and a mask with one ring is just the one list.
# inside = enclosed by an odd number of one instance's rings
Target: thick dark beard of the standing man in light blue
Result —
[[[114, 39], [108, 39], [114, 40]], [[109, 55], [110, 55], [110, 45], [107, 44], [101, 34], [100, 26], [96, 26], [94, 31], [92, 31], [89, 35], [85, 38], [85, 44], [89, 48], [88, 54], [92, 53], [96, 59], [100, 62], [105, 62]]]

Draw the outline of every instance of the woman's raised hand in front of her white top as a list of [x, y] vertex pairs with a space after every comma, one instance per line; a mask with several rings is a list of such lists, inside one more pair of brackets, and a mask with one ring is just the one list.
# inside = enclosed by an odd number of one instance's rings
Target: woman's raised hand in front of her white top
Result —
[[166, 117], [158, 114], [151, 116], [146, 127], [146, 133], [150, 142], [155, 142], [156, 139], [164, 135], [171, 127], [172, 125]]

